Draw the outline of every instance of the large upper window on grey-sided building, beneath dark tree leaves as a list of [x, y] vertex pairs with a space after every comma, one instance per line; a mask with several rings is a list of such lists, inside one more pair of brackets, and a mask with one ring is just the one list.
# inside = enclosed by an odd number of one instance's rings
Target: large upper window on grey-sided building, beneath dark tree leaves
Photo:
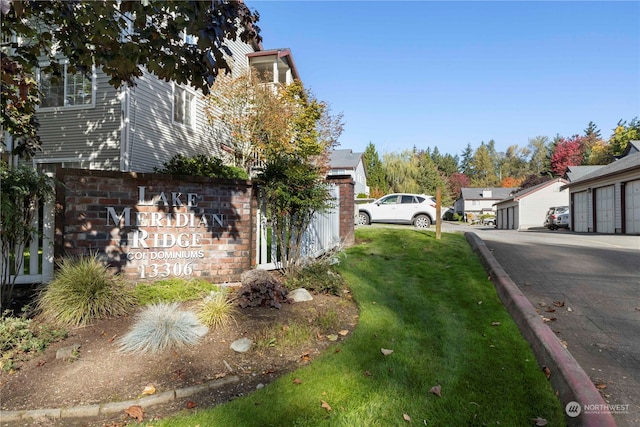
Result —
[[60, 64], [61, 75], [40, 73], [40, 108], [92, 107], [94, 84], [92, 74], [70, 73], [68, 64]]

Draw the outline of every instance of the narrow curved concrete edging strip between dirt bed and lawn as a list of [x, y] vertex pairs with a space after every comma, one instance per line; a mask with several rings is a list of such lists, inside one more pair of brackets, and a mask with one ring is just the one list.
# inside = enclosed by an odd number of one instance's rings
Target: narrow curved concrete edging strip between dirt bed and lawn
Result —
[[176, 399], [189, 397], [197, 393], [207, 390], [215, 390], [223, 385], [240, 381], [238, 376], [221, 378], [209, 381], [204, 384], [186, 387], [183, 389], [165, 391], [163, 393], [142, 397], [140, 399], [125, 400], [123, 402], [109, 402], [95, 405], [74, 406], [72, 408], [55, 408], [55, 409], [29, 409], [24, 411], [0, 411], [0, 420], [2, 422], [23, 421], [27, 419], [37, 419], [41, 417], [49, 417], [54, 419], [96, 417], [106, 414], [114, 414], [124, 412], [130, 406], [139, 405], [143, 408], [168, 403]]

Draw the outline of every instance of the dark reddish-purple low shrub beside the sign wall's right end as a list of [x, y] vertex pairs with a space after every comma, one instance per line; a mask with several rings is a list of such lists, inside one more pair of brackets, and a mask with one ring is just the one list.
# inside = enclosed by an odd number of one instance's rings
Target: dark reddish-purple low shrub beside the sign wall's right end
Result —
[[265, 270], [249, 270], [242, 274], [242, 287], [238, 291], [238, 305], [246, 307], [280, 308], [287, 299], [287, 289]]

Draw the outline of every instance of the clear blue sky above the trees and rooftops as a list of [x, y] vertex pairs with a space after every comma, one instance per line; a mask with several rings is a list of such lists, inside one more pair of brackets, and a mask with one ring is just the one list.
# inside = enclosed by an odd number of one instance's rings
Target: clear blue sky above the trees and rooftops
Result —
[[245, 0], [344, 114], [339, 148], [498, 151], [640, 116], [640, 2]]

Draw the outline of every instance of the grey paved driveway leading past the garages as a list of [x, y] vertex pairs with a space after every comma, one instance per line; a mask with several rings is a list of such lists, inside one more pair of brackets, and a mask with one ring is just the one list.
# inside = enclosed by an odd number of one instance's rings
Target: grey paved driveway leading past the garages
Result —
[[640, 426], [640, 237], [545, 229], [466, 231], [482, 238], [532, 305], [550, 319], [548, 325], [605, 400], [621, 405], [620, 413], [614, 412], [616, 423]]

